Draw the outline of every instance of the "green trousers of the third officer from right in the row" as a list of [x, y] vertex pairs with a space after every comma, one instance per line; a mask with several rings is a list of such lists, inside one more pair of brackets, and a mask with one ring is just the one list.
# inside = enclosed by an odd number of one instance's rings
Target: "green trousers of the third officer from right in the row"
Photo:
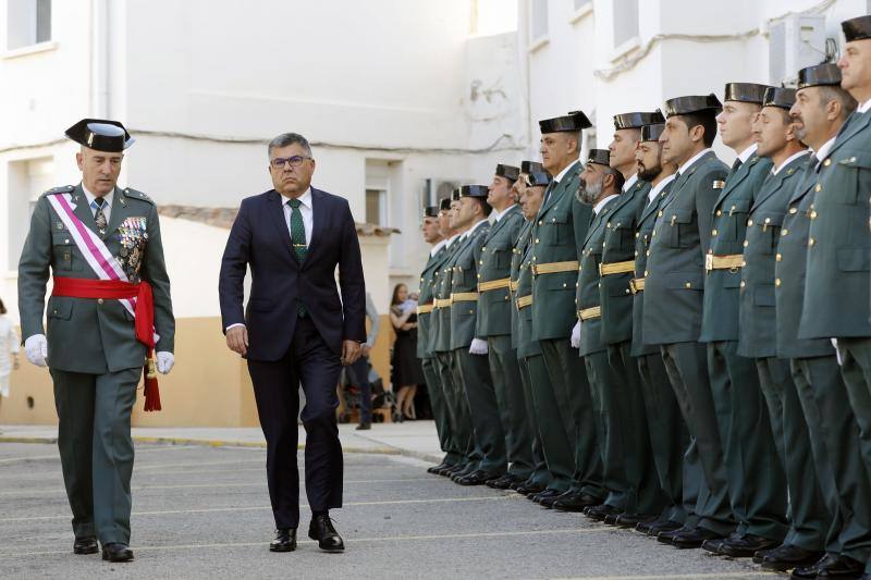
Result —
[[789, 491], [789, 531], [783, 543], [814, 552], [823, 551], [831, 516], [817, 480], [808, 423], [793, 382], [789, 361], [766, 357], [757, 359], [756, 366]]

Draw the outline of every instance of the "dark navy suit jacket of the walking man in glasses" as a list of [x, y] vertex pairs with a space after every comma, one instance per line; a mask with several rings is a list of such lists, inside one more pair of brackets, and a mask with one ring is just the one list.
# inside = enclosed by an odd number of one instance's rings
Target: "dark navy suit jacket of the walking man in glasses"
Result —
[[[290, 348], [302, 301], [323, 341], [341, 354], [343, 340], [366, 341], [366, 288], [351, 208], [346, 199], [311, 188], [311, 243], [300, 263], [282, 201], [274, 189], [242, 200], [221, 261], [218, 292], [223, 329], [245, 323], [247, 358], [278, 360]], [[243, 314], [248, 266], [252, 294]]]

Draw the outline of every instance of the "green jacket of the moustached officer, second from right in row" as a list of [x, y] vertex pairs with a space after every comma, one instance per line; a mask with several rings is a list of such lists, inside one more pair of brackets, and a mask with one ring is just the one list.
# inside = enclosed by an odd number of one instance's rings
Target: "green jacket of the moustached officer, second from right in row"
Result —
[[829, 338], [799, 338], [798, 325], [805, 301], [805, 273], [808, 267], [808, 235], [817, 185], [817, 157], [810, 159], [798, 176], [781, 227], [774, 276], [777, 303], [777, 356], [781, 358], [823, 357], [835, 354]]

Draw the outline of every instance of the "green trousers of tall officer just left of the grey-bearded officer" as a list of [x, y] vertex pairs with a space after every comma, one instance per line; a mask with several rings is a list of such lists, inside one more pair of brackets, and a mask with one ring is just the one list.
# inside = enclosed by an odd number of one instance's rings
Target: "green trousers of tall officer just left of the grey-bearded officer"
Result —
[[539, 344], [560, 404], [560, 417], [573, 446], [575, 471], [572, 490], [604, 501], [608, 491], [602, 483], [598, 418], [584, 361], [568, 338], [547, 340]]

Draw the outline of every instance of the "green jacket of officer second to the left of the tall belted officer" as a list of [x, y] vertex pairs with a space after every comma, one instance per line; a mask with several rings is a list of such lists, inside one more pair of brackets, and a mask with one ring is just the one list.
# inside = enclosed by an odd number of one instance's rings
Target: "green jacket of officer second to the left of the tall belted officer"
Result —
[[[520, 206], [514, 205], [496, 223], [483, 240], [481, 259], [478, 260], [478, 282], [505, 280], [511, 276], [511, 259], [517, 234], [524, 225]], [[500, 336], [511, 334], [511, 292], [499, 288], [481, 293], [478, 307], [476, 336]]]

